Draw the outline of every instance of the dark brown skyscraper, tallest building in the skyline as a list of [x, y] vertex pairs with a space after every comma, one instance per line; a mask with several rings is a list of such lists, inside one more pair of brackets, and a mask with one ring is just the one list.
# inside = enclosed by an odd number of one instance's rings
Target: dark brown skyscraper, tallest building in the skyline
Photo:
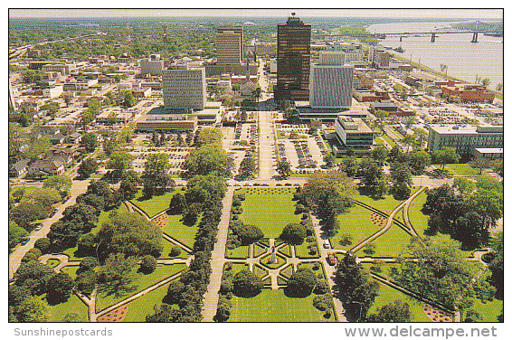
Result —
[[309, 99], [311, 25], [292, 13], [286, 24], [278, 24], [278, 83], [276, 101]]

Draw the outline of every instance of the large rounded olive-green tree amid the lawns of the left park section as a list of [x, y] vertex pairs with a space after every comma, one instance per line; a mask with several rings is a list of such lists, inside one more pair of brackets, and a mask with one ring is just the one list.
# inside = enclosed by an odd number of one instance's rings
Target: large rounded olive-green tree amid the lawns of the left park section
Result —
[[126, 256], [153, 255], [163, 250], [162, 231], [137, 213], [118, 213], [101, 224], [99, 252]]

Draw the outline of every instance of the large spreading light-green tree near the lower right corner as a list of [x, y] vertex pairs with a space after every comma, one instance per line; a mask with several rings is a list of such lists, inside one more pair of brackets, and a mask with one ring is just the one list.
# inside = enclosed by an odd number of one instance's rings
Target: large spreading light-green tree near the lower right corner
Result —
[[427, 241], [425, 246], [413, 240], [399, 263], [400, 269], [393, 269], [393, 279], [450, 309], [462, 312], [472, 306], [475, 297], [489, 300], [495, 293], [485, 275], [465, 259], [456, 241]]

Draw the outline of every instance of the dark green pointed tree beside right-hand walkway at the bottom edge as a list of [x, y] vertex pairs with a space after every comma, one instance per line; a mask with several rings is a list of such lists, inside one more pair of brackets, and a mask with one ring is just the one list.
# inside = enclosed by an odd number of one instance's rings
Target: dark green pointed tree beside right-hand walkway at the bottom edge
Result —
[[363, 270], [356, 258], [347, 252], [343, 260], [338, 261], [335, 276], [337, 283], [337, 296], [346, 306], [346, 309], [357, 321], [365, 320], [377, 296], [379, 284], [370, 280], [370, 276]]

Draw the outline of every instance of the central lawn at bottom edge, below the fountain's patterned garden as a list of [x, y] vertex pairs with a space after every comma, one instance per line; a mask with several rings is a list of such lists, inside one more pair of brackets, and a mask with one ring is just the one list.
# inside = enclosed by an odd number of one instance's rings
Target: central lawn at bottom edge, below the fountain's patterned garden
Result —
[[[284, 290], [263, 289], [256, 297], [232, 297], [229, 322], [322, 322], [324, 312], [313, 307], [314, 294], [286, 297]], [[330, 316], [328, 321], [334, 321]]]

